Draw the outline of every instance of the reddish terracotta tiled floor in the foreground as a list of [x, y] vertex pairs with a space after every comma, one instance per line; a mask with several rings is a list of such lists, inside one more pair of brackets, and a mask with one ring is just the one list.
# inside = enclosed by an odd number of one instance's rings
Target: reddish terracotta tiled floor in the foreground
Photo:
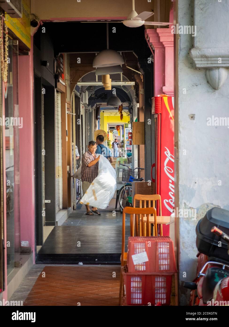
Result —
[[[116, 272], [116, 278], [112, 277]], [[44, 267], [28, 294], [25, 305], [118, 305], [120, 269], [99, 267]]]

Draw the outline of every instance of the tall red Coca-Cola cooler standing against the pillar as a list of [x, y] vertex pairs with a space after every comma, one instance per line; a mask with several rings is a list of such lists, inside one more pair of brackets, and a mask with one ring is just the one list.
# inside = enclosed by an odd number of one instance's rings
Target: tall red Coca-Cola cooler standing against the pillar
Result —
[[[156, 184], [156, 194], [161, 196], [162, 215], [170, 216], [174, 209], [174, 97], [153, 97], [152, 114], [155, 115], [156, 158], [152, 181]], [[169, 225], [163, 225], [163, 236], [169, 236]]]

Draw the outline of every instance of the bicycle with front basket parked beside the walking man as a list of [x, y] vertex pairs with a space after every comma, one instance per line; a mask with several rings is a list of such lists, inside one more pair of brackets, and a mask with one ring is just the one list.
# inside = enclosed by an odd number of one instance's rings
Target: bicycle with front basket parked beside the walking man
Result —
[[[137, 178], [139, 170], [144, 168], [129, 168], [126, 164], [120, 163], [120, 165], [127, 167], [128, 169], [123, 169], [122, 181], [124, 185], [119, 190], [119, 206], [120, 212], [123, 212], [124, 207], [132, 207], [132, 182], [143, 181], [143, 177]], [[136, 171], [138, 169], [138, 171]]]

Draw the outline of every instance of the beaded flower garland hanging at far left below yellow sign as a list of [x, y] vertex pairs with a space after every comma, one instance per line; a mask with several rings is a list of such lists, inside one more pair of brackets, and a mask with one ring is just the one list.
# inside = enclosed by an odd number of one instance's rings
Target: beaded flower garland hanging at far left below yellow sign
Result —
[[[4, 21], [5, 42], [3, 38], [2, 21], [0, 21], [0, 57], [1, 57], [1, 71], [3, 82], [7, 83], [8, 78], [8, 27]], [[6, 86], [5, 86], [6, 87]]]

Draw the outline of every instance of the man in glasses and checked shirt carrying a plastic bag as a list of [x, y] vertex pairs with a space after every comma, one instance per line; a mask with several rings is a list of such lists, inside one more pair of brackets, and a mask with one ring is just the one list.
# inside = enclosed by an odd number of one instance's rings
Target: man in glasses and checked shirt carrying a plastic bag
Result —
[[[96, 149], [97, 143], [95, 141], [90, 141], [88, 144], [88, 151], [83, 154], [81, 167], [83, 194], [86, 193], [92, 181], [98, 176], [100, 156], [95, 153]], [[92, 212], [90, 211], [89, 205], [86, 205], [86, 209], [86, 215], [94, 215], [93, 212], [97, 215], [101, 215], [96, 207], [92, 207]]]

